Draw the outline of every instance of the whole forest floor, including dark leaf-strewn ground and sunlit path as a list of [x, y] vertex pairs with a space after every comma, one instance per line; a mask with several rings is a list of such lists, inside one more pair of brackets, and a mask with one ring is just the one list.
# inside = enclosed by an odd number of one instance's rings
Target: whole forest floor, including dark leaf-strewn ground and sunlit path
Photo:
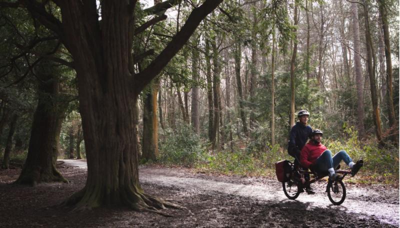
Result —
[[313, 184], [314, 195], [288, 200], [275, 179], [195, 172], [157, 165], [141, 166], [146, 193], [187, 207], [165, 209], [172, 217], [128, 208], [71, 211], [57, 207], [81, 189], [86, 164], [64, 160], [58, 167], [70, 183], [34, 187], [10, 184], [20, 168], [0, 170], [0, 227], [398, 227], [398, 188], [346, 183], [347, 197], [334, 206], [325, 180]]

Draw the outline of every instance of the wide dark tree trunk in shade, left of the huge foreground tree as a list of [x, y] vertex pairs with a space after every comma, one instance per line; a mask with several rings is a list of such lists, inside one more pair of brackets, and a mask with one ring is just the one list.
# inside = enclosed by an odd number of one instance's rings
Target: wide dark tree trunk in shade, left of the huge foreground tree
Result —
[[52, 75], [40, 77], [44, 82], [38, 86], [39, 98], [33, 115], [28, 154], [16, 183], [67, 182], [55, 168], [66, 105], [58, 98], [58, 79]]

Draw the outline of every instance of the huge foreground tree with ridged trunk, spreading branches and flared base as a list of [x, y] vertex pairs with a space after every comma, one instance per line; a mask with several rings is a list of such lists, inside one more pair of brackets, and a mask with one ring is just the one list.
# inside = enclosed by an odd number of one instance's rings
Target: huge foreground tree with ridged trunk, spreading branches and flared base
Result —
[[[62, 23], [36, 1], [22, 2], [34, 17], [59, 35], [74, 59], [87, 180], [66, 204], [77, 208], [125, 205], [139, 210], [168, 205], [145, 194], [139, 184], [136, 99], [221, 1], [205, 0], [193, 9], [165, 48], [139, 73], [134, 71], [131, 53], [136, 0], [101, 1], [101, 23], [95, 1], [57, 0]], [[143, 12], [157, 13], [179, 1], [165, 2]]]

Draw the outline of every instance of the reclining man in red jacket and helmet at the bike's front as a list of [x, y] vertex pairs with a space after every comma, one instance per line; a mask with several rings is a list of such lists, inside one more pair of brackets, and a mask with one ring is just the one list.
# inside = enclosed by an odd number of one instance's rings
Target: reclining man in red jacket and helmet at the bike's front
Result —
[[301, 149], [300, 164], [316, 173], [329, 172], [329, 180], [335, 180], [337, 174], [334, 169], [343, 160], [351, 168], [351, 176], [354, 176], [363, 165], [363, 160], [359, 159], [354, 163], [344, 150], [340, 150], [332, 157], [330, 150], [321, 144], [322, 134], [319, 129], [311, 132], [308, 143]]

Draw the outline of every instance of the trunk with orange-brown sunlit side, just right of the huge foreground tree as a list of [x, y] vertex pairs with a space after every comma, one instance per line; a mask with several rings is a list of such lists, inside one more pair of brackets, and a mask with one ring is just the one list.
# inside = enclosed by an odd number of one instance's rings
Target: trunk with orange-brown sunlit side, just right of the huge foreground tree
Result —
[[143, 143], [141, 155], [146, 160], [155, 161], [158, 156], [158, 80], [154, 79], [149, 86], [149, 92], [143, 100]]

